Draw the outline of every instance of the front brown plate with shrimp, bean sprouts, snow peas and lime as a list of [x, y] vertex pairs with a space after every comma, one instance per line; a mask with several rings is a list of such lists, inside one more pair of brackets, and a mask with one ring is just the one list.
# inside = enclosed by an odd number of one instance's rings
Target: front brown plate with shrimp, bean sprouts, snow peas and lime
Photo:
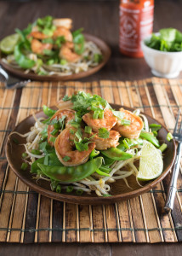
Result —
[[168, 174], [175, 144], [156, 119], [116, 104], [111, 109], [100, 96], [78, 92], [71, 100], [65, 96], [56, 113], [44, 107], [9, 135], [9, 165], [31, 189], [59, 201], [108, 204], [141, 195]]

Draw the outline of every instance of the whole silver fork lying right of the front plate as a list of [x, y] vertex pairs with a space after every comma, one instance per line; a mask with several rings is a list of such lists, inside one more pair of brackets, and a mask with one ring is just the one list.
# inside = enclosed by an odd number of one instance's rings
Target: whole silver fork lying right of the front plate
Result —
[[[175, 198], [175, 195], [176, 195], [176, 183], [177, 183], [177, 178], [179, 176], [179, 166], [180, 166], [181, 148], [182, 148], [182, 133], [181, 133], [181, 131], [182, 131], [182, 120], [180, 122], [180, 125], [178, 125], [179, 116], [180, 116], [180, 110], [178, 112], [178, 116], [177, 116], [177, 119], [176, 119], [176, 124], [175, 124], [175, 127], [173, 129], [173, 138], [179, 144], [178, 144], [178, 148], [177, 148], [176, 159], [175, 159], [174, 165], [173, 165], [173, 172], [172, 172], [172, 177], [171, 177], [171, 181], [170, 181], [170, 185], [169, 185], [169, 189], [168, 189], [166, 205], [164, 207], [164, 209], [167, 210], [167, 211], [173, 210], [173, 202], [174, 202], [174, 198]], [[179, 129], [178, 129], [178, 126], [179, 126]]]

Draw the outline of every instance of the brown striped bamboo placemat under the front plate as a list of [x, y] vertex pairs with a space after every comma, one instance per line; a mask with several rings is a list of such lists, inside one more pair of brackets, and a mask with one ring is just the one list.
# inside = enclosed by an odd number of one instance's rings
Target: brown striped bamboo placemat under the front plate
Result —
[[182, 80], [134, 82], [31, 82], [23, 90], [0, 87], [0, 241], [175, 242], [182, 241], [182, 172], [172, 213], [163, 211], [170, 177], [150, 192], [111, 206], [78, 206], [38, 195], [9, 168], [4, 148], [10, 131], [43, 104], [86, 90], [108, 102], [139, 108], [173, 130], [182, 109]]

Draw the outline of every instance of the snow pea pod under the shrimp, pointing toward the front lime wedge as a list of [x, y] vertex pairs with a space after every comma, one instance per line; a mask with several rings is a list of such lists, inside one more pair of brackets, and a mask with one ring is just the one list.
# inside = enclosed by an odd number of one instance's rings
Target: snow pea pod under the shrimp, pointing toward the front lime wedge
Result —
[[101, 151], [102, 154], [111, 158], [112, 160], [127, 160], [133, 157], [133, 154], [128, 154], [119, 148], [109, 148], [107, 150]]

